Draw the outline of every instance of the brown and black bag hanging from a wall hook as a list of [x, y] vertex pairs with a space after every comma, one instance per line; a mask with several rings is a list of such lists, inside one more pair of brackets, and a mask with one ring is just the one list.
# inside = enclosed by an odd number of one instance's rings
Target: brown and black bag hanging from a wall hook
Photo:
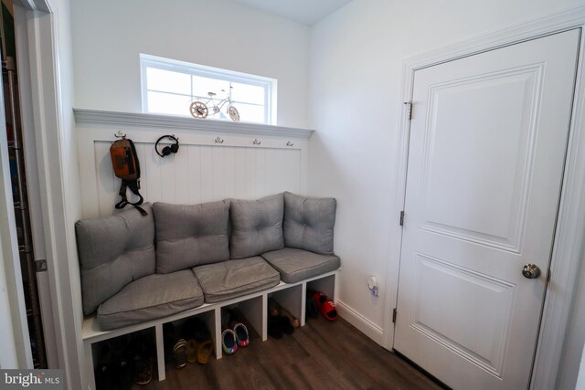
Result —
[[[116, 208], [123, 208], [126, 205], [132, 205], [140, 211], [143, 216], [148, 216], [140, 205], [143, 204], [144, 198], [140, 195], [140, 163], [138, 162], [138, 154], [134, 147], [134, 142], [125, 137], [121, 140], [112, 142], [110, 146], [110, 156], [112, 157], [113, 172], [117, 177], [122, 179], [120, 185], [120, 192], [122, 200], [116, 204]], [[131, 203], [126, 197], [126, 189], [130, 188], [134, 195], [138, 196], [138, 201]]]

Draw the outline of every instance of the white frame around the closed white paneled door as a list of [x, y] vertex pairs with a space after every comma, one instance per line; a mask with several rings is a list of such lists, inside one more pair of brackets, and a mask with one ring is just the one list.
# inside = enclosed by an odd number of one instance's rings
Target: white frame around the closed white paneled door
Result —
[[[408, 102], [412, 96], [414, 72], [453, 59], [505, 47], [514, 43], [548, 36], [572, 28], [585, 27], [585, 6], [571, 9], [553, 16], [547, 16], [498, 31], [484, 37], [475, 38], [461, 44], [445, 47], [424, 55], [409, 58], [402, 66], [402, 101]], [[541, 327], [538, 337], [537, 354], [532, 374], [531, 389], [555, 388], [563, 343], [567, 336], [573, 293], [577, 289], [578, 271], [583, 253], [582, 237], [585, 237], [585, 76], [583, 59], [585, 39], [581, 36], [580, 63], [577, 71], [575, 100], [571, 117], [569, 147], [563, 179], [557, 231], [550, 264], [550, 280], [544, 303]], [[416, 115], [416, 106], [413, 108]], [[399, 119], [399, 139], [395, 155], [397, 171], [396, 188], [392, 207], [393, 216], [399, 216], [404, 207], [406, 176], [409, 154], [410, 121], [408, 107], [405, 106]], [[408, 218], [408, 216], [406, 216]], [[388, 262], [388, 289], [386, 299], [388, 310], [384, 318], [385, 345], [388, 349], [394, 344], [394, 324], [392, 308], [396, 307], [398, 297], [400, 247], [402, 229], [399, 224], [391, 227], [391, 237], [400, 237], [400, 245], [391, 249]], [[520, 270], [518, 270], [519, 272]]]

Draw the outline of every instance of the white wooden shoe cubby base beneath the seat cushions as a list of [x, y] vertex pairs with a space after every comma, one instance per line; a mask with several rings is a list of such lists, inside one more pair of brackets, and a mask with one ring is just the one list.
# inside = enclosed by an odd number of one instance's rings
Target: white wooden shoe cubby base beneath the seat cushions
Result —
[[[211, 333], [214, 342], [215, 357], [221, 359], [223, 356], [221, 345], [222, 325], [228, 318], [222, 317], [222, 309], [225, 314], [226, 308], [237, 308], [246, 319], [246, 326], [261, 336], [261, 340], [268, 339], [268, 300], [276, 300], [282, 308], [290, 311], [294, 317], [304, 326], [305, 308], [307, 290], [324, 292], [330, 299], [335, 300], [337, 296], [337, 282], [339, 270], [328, 272], [324, 275], [299, 281], [297, 283], [284, 283], [274, 286], [268, 290], [262, 290], [249, 295], [223, 300], [217, 303], [206, 303], [196, 309], [177, 313], [170, 317], [146, 321], [144, 323], [128, 326], [111, 332], [100, 331], [95, 317], [88, 317], [83, 321], [83, 345], [85, 351], [85, 366], [90, 389], [96, 389], [94, 369], [98, 364], [99, 344], [109, 341], [123, 335], [133, 335], [134, 333], [146, 332], [151, 335], [155, 348], [154, 373], [153, 380], [164, 381], [165, 374], [165, 323], [173, 323], [176, 330], [189, 318], [197, 316], [205, 321], [207, 329]], [[167, 342], [169, 339], [167, 338]], [[252, 343], [259, 343], [260, 340], [254, 338]], [[173, 367], [173, 363], [169, 362]]]

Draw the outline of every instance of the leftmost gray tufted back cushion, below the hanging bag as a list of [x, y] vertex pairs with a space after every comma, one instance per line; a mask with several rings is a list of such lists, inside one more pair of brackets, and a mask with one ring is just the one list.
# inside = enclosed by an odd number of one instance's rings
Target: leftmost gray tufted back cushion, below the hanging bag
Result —
[[115, 216], [75, 223], [84, 314], [134, 279], [154, 273], [153, 208], [142, 207], [148, 216], [131, 207]]

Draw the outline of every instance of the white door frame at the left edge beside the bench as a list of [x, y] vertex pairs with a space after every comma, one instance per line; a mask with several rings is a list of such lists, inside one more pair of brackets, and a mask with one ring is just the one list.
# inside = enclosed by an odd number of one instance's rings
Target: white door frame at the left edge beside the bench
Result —
[[[23, 124], [34, 128], [37, 153], [38, 208], [45, 236], [50, 293], [50, 307], [44, 309], [52, 314], [52, 349], [57, 352], [50, 364], [64, 371], [66, 388], [84, 389], [88, 386], [80, 334], [83, 317], [73, 228], [73, 222], [80, 216], [80, 188], [76, 185], [79, 171], [72, 173], [74, 169], [70, 169], [77, 166], [71, 164], [79, 162], [79, 158], [69, 154], [77, 152], [77, 147], [72, 148], [77, 139], [70, 103], [72, 91], [64, 87], [69, 87], [67, 78], [72, 76], [63, 70], [70, 65], [69, 0], [13, 1], [20, 7], [15, 12], [18, 39], [26, 36], [27, 40], [17, 45], [27, 51], [21, 55], [26, 58], [28, 69], [21, 68], [25, 64], [20, 63], [18, 70], [20, 82], [27, 85], [26, 96], [21, 96], [21, 100], [28, 101], [21, 109], [25, 117], [32, 118]], [[47, 320], [43, 311], [44, 325]]]

